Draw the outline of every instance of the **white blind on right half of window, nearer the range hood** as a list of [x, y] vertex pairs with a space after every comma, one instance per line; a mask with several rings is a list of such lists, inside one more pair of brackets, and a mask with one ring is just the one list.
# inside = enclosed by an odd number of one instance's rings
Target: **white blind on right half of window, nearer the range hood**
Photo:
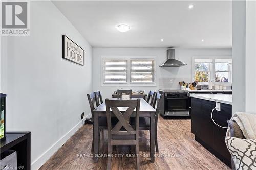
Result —
[[155, 60], [132, 59], [131, 60], [131, 83], [154, 83]]

